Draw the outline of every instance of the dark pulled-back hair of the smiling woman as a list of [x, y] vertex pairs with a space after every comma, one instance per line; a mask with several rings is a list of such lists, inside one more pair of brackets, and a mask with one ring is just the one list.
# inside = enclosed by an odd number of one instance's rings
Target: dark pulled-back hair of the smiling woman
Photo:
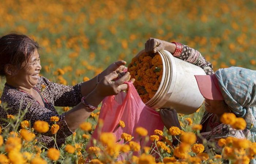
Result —
[[28, 63], [31, 55], [39, 48], [37, 42], [26, 35], [8, 34], [0, 37], [0, 76], [5, 76], [5, 65], [12, 65], [12, 75]]

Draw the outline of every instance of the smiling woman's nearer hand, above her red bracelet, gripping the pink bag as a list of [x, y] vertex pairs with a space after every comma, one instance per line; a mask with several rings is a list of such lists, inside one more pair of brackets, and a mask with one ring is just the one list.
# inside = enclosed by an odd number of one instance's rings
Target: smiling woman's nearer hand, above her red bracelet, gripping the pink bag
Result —
[[[116, 71], [106, 75], [96, 86], [95, 92], [99, 97], [106, 97], [109, 95], [117, 95], [123, 90], [127, 90], [128, 85], [124, 82], [129, 81], [130, 73], [127, 72], [123, 77], [113, 81], [118, 77]], [[131, 82], [134, 82], [134, 79], [131, 79]]]

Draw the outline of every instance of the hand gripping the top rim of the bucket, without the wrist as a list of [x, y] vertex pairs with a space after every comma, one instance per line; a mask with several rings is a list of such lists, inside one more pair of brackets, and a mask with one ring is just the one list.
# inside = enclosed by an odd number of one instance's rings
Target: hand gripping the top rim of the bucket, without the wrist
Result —
[[153, 54], [157, 51], [165, 49], [165, 41], [155, 38], [149, 38], [145, 43], [145, 51], [149, 54]]

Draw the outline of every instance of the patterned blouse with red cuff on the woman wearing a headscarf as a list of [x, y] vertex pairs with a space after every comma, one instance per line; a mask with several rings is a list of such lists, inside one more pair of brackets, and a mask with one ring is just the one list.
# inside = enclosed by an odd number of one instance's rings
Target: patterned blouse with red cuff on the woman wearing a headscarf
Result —
[[[193, 48], [190, 48], [184, 44], [173, 42], [176, 44], [176, 50], [173, 54], [173, 56], [184, 60], [186, 62], [192, 63], [194, 65], [197, 65], [201, 67], [207, 75], [214, 74], [214, 71], [212, 70], [212, 65], [210, 62], [207, 62], [206, 59], [200, 54], [199, 51], [194, 50]], [[205, 127], [208, 122], [211, 120], [212, 113], [208, 113], [207, 111], [204, 112], [204, 115], [202, 117], [202, 120], [200, 122], [203, 127]], [[213, 128], [210, 132], [205, 132], [204, 128], [201, 130], [201, 135], [204, 139], [206, 139], [208, 142], [215, 143], [215, 146], [218, 147], [218, 140], [220, 138], [226, 138], [226, 137], [236, 137], [240, 139], [247, 139], [251, 140], [251, 132], [248, 129], [245, 130], [236, 130], [231, 128], [230, 125], [226, 124], [218, 124]], [[197, 140], [199, 143], [202, 143], [202, 139], [198, 137]]]

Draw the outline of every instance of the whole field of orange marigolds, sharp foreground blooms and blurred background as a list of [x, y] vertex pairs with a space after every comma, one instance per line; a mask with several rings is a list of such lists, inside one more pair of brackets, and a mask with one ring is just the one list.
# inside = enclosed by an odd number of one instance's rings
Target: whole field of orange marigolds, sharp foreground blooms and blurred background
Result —
[[[214, 70], [230, 66], [255, 70], [255, 9], [254, 0], [0, 0], [0, 36], [18, 32], [32, 37], [41, 47], [40, 75], [64, 85], [87, 81], [117, 60], [128, 66], [150, 37], [195, 48]], [[0, 94], [4, 83], [0, 79]], [[70, 108], [56, 107], [59, 114]], [[22, 112], [8, 115], [8, 127], [14, 131], [0, 127], [0, 164], [213, 164], [225, 159], [244, 164], [256, 155], [256, 144], [248, 140], [219, 140], [220, 155], [207, 149], [211, 143], [196, 144], [204, 106], [189, 116], [179, 114], [182, 130], [156, 129], [148, 136], [146, 129], [137, 128], [136, 134], [151, 141], [151, 147], [132, 141], [130, 134], [115, 138], [102, 133], [86, 149], [97, 122], [99, 127], [104, 123], [98, 120], [99, 112], [100, 108], [66, 138], [65, 145], [50, 149], [37, 141], [35, 133], [50, 131], [55, 139], [58, 117], [51, 118], [52, 126], [44, 121], [31, 126], [22, 120]], [[236, 116], [225, 115], [222, 122], [244, 128], [244, 120]], [[172, 136], [181, 136], [177, 147], [171, 144]], [[120, 140], [125, 144], [118, 144]], [[117, 161], [120, 155], [123, 160]]]

